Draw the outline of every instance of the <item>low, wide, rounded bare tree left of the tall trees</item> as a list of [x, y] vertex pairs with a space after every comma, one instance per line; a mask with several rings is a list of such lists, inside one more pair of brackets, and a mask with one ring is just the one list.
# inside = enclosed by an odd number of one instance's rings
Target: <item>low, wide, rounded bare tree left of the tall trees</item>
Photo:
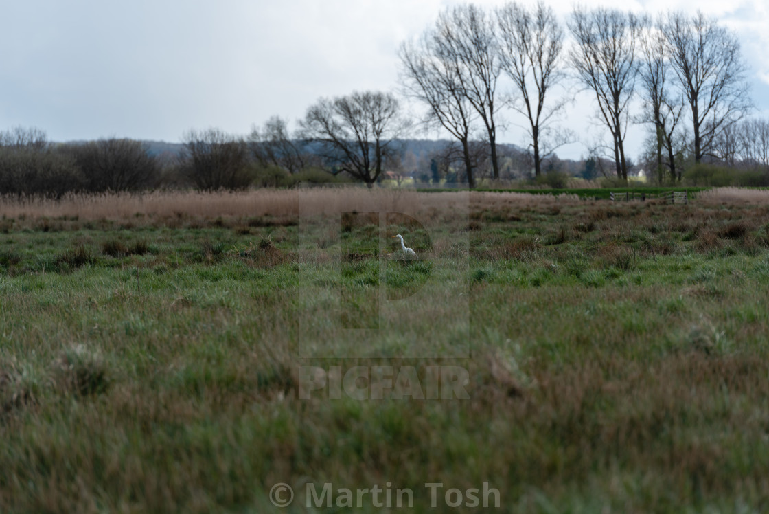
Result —
[[398, 100], [383, 92], [321, 98], [300, 122], [301, 137], [320, 145], [318, 152], [328, 165], [368, 185], [397, 154], [394, 140], [406, 129]]

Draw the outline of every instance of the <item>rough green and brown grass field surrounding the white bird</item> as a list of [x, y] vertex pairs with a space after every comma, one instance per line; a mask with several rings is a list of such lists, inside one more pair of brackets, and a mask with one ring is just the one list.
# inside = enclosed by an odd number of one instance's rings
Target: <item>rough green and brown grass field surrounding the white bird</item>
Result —
[[[348, 512], [344, 489], [368, 489], [358, 512], [399, 489], [412, 512], [769, 505], [769, 192], [0, 215], [0, 512]], [[308, 509], [327, 482], [331, 507]], [[484, 483], [498, 509], [474, 506]]]

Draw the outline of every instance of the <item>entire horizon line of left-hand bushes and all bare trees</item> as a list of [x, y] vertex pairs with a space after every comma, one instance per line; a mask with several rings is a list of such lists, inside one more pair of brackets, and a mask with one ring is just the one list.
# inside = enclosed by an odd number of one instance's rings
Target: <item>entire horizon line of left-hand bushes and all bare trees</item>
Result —
[[[431, 156], [433, 182], [453, 170], [472, 188], [480, 178], [500, 179], [510, 162], [541, 178], [557, 167], [557, 149], [578, 141], [561, 126], [575, 88], [589, 93], [607, 136], [591, 145], [586, 177], [598, 170], [628, 181], [625, 138], [634, 123], [648, 128], [640, 157], [656, 182], [680, 182], [688, 168], [708, 163], [769, 174], [769, 122], [748, 118], [737, 37], [701, 12], [575, 7], [563, 25], [544, 2], [468, 3], [445, 8], [403, 42], [398, 61], [398, 95], [319, 98], [294, 131], [279, 116], [245, 137], [191, 130], [182, 151], [165, 159], [128, 139], [53, 145], [38, 129], [11, 129], [0, 133], [0, 192], [372, 184], [404, 165], [398, 142], [416, 129], [451, 136]], [[421, 115], [406, 115], [405, 102], [421, 106]], [[527, 132], [523, 159], [498, 144], [506, 122]]]

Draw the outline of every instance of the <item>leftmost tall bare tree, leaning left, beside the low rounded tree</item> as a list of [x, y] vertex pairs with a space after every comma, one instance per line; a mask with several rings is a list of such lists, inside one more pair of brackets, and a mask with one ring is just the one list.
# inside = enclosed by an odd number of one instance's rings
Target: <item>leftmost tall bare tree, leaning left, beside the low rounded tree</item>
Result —
[[405, 42], [401, 58], [404, 93], [427, 105], [428, 126], [443, 127], [461, 143], [462, 160], [470, 188], [475, 187], [470, 136], [474, 115], [460, 78], [459, 65], [441, 52], [434, 31], [428, 29], [417, 42]]

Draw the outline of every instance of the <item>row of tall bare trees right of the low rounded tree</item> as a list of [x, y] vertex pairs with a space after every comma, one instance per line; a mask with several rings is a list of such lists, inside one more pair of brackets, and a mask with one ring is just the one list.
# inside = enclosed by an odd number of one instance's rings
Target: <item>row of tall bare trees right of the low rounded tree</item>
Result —
[[[595, 145], [592, 153], [610, 156], [623, 182], [631, 122], [650, 126], [650, 161], [658, 182], [666, 176], [679, 181], [682, 160], [734, 159], [730, 135], [762, 123], [738, 125], [752, 108], [747, 71], [737, 37], [714, 18], [701, 12], [652, 18], [576, 7], [566, 28], [570, 45], [544, 2], [533, 8], [508, 2], [496, 9], [466, 4], [446, 9], [420, 38], [401, 45], [401, 82], [408, 95], [427, 106], [424, 122], [441, 125], [463, 146], [471, 186], [474, 163], [467, 149], [474, 120], [486, 136], [491, 171], [498, 178], [495, 120], [502, 107], [524, 119], [536, 176], [546, 156], [574, 141], [557, 126], [571, 95], [569, 78], [593, 97], [596, 117], [611, 141]], [[499, 87], [501, 78], [508, 79], [506, 89]], [[641, 112], [632, 112], [634, 100]], [[744, 143], [754, 137], [748, 135]]]

